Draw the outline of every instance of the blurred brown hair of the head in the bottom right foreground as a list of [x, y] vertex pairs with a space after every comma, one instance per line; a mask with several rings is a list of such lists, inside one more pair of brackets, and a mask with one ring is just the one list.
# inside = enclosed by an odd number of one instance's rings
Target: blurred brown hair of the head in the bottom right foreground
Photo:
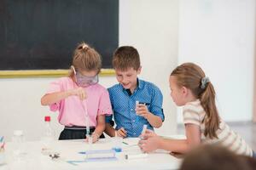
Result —
[[255, 160], [249, 162], [249, 159], [250, 157], [238, 156], [220, 145], [203, 144], [184, 157], [180, 170], [249, 170], [253, 169], [255, 163]]

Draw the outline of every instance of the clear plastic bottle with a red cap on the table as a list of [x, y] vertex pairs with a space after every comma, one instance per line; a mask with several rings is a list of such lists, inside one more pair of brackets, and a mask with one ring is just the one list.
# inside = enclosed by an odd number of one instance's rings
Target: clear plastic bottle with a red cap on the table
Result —
[[44, 116], [44, 133], [41, 138], [42, 153], [44, 155], [51, 154], [53, 150], [53, 143], [55, 141], [55, 132], [50, 125], [50, 116]]

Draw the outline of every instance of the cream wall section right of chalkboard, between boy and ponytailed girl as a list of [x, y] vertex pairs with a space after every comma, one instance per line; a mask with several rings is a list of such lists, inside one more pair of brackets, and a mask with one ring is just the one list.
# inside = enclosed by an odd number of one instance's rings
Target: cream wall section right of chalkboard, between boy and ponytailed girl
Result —
[[177, 0], [120, 0], [119, 45], [137, 48], [143, 66], [141, 77], [154, 82], [164, 95], [166, 121], [156, 132], [176, 132], [176, 107], [168, 78], [177, 65]]

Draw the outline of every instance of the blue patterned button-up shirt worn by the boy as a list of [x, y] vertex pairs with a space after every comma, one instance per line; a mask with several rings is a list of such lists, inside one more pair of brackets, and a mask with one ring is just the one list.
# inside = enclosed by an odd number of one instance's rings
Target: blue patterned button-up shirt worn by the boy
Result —
[[121, 84], [108, 88], [113, 115], [106, 116], [106, 122], [110, 123], [114, 119], [116, 129], [124, 127], [127, 137], [138, 137], [142, 133], [144, 124], [148, 125], [148, 129], [154, 130], [147, 119], [143, 116], [137, 116], [135, 111], [136, 101], [147, 103], [148, 111], [155, 116], [160, 116], [162, 121], [165, 119], [162, 110], [163, 95], [160, 89], [151, 82], [139, 79], [137, 84], [138, 86], [133, 94], [130, 90], [123, 88]]

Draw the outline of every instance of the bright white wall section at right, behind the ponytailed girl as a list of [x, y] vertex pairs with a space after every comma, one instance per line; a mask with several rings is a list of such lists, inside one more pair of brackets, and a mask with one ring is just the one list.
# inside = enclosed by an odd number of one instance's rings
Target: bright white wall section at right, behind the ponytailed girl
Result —
[[178, 63], [201, 65], [229, 122], [253, 116], [255, 6], [255, 0], [180, 1]]

